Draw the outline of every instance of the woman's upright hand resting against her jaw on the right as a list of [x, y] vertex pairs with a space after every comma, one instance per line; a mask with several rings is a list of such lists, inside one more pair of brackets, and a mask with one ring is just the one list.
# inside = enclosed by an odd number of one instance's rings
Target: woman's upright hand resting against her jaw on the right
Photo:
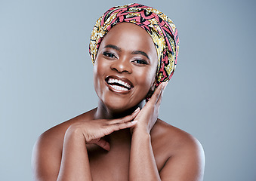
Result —
[[147, 131], [147, 133], [150, 133], [150, 130], [156, 123], [157, 117], [159, 116], [162, 95], [167, 84], [168, 82], [163, 82], [156, 88], [153, 96], [134, 118], [134, 121], [137, 121], [137, 124], [134, 125], [134, 127], [131, 127], [131, 133], [134, 133], [137, 130]]

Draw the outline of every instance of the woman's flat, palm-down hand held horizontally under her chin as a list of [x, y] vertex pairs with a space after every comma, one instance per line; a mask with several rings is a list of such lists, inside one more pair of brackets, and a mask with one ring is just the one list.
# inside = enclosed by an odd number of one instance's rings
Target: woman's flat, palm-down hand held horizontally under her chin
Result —
[[116, 130], [122, 130], [133, 127], [137, 121], [133, 121], [140, 109], [136, 109], [131, 115], [118, 119], [95, 119], [90, 121], [81, 121], [72, 124], [67, 131], [79, 131], [85, 137], [86, 144], [96, 144], [109, 151], [110, 146], [102, 137], [113, 133]]

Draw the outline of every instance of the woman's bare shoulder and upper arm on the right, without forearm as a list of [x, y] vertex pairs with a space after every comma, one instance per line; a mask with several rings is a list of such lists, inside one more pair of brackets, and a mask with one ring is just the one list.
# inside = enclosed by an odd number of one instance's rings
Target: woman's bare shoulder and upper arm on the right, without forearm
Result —
[[156, 154], [162, 155], [160, 158], [165, 155], [164, 167], [159, 172], [162, 178], [203, 179], [205, 154], [199, 140], [160, 119], [156, 121], [151, 137]]

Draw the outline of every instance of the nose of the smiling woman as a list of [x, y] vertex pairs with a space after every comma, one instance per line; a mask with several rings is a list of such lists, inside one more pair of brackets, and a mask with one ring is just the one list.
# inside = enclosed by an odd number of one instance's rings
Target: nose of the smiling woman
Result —
[[132, 72], [130, 61], [125, 60], [125, 59], [119, 59], [119, 60], [113, 61], [110, 68], [112, 70], [116, 70], [119, 73], [122, 73], [122, 72], [131, 73]]

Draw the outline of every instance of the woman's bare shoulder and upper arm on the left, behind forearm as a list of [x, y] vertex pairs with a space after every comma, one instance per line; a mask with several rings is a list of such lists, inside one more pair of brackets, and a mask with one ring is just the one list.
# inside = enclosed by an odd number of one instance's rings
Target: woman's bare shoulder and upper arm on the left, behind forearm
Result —
[[32, 173], [35, 180], [56, 180], [60, 170], [63, 140], [68, 127], [91, 118], [94, 109], [51, 127], [40, 135], [32, 151]]

